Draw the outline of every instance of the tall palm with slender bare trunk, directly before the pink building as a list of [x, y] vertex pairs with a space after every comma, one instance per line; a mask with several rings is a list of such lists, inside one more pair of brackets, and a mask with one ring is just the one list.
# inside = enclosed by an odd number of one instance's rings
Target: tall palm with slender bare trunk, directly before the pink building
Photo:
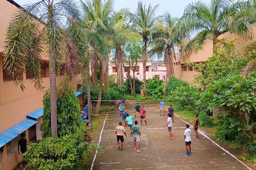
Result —
[[[146, 62], [147, 62], [147, 44], [152, 39], [152, 34], [163, 29], [162, 22], [158, 21], [161, 17], [155, 17], [156, 6], [151, 6], [151, 4], [146, 8], [146, 5], [142, 4], [142, 1], [138, 2], [136, 13], [130, 13], [130, 19], [134, 26], [137, 28], [139, 34], [141, 34], [143, 39], [142, 45], [142, 62], [143, 62], [143, 82], [144, 88], [146, 88]], [[145, 92], [146, 95], [146, 92]]]

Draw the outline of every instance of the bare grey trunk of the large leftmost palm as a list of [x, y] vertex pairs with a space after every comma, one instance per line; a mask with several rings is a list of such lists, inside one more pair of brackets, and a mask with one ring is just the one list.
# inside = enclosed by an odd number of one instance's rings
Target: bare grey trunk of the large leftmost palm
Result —
[[[51, 67], [50, 67], [51, 68]], [[50, 69], [50, 91], [51, 91], [51, 133], [57, 136], [57, 93], [56, 93], [56, 71]]]

